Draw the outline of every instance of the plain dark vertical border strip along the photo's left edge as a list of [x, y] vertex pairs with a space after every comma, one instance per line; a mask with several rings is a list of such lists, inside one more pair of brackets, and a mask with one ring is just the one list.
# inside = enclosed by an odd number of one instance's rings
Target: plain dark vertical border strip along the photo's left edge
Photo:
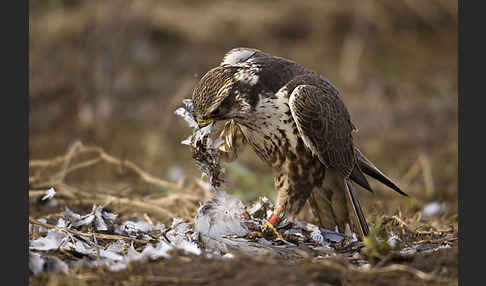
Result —
[[[8, 5], [7, 5], [8, 4]], [[0, 31], [2, 281], [28, 285], [29, 2], [5, 2]], [[7, 282], [8, 281], [8, 282]]]

